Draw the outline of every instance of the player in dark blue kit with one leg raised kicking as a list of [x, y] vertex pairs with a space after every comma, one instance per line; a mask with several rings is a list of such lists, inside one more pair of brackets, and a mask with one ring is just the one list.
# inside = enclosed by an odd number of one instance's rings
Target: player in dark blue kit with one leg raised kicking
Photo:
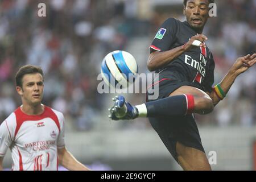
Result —
[[[148, 117], [152, 127], [184, 170], [210, 170], [193, 113], [208, 114], [228, 93], [236, 77], [256, 62], [256, 53], [239, 57], [212, 88], [214, 60], [203, 35], [213, 0], [184, 0], [187, 21], [168, 18], [150, 46], [148, 69], [159, 73], [159, 97], [131, 106], [115, 97], [113, 120]], [[150, 89], [150, 88], [149, 88]]]

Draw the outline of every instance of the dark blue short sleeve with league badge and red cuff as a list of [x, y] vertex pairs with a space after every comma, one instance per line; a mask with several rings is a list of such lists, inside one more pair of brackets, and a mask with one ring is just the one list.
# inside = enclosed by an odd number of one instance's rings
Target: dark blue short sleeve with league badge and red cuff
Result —
[[168, 18], [156, 33], [150, 46], [150, 53], [154, 51], [168, 51], [172, 44], [175, 43], [176, 34], [177, 20], [174, 18]]

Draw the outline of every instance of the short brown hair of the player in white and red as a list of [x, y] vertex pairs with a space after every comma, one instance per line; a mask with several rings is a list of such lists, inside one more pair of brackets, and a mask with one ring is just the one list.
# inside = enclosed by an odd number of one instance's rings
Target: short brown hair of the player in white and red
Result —
[[16, 73], [16, 76], [15, 76], [16, 86], [20, 86], [22, 88], [23, 76], [28, 74], [35, 74], [35, 73], [40, 73], [44, 78], [43, 70], [40, 67], [36, 67], [34, 65], [24, 65], [23, 67], [19, 68], [19, 71]]

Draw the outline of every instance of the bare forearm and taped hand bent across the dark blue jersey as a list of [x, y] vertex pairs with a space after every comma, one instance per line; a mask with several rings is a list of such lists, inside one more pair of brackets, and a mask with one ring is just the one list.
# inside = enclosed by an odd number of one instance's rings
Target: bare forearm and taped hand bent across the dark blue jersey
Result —
[[192, 36], [192, 38], [189, 39], [189, 41], [185, 43], [183, 46], [176, 47], [169, 51], [152, 52], [148, 57], [147, 61], [148, 70], [155, 71], [156, 69], [161, 68], [164, 65], [167, 65], [176, 57], [180, 56], [182, 53], [187, 52], [193, 48], [196, 48], [197, 46], [206, 47], [205, 44], [202, 43], [205, 40], [208, 40], [207, 36], [203, 34], [195, 35]]

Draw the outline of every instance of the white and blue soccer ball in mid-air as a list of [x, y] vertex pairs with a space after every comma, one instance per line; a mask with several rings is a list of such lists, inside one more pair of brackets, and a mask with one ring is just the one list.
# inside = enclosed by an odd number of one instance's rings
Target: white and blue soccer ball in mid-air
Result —
[[106, 84], [114, 88], [122, 89], [133, 84], [137, 73], [137, 61], [129, 52], [113, 51], [102, 60], [101, 75]]

